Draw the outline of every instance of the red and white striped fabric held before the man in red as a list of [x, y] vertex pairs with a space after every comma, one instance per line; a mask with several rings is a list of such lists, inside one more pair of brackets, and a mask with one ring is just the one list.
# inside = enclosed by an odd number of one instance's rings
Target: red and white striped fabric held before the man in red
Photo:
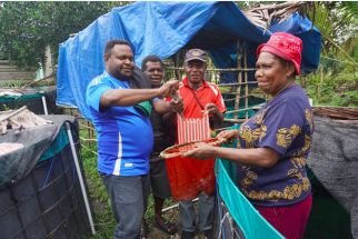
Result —
[[211, 138], [208, 113], [203, 113], [202, 118], [183, 118], [178, 114], [177, 126], [179, 145]]

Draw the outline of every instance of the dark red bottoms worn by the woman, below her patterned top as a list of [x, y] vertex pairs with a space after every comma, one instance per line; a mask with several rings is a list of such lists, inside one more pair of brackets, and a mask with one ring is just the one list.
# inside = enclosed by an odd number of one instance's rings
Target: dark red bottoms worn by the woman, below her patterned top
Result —
[[298, 203], [286, 207], [255, 206], [260, 215], [287, 239], [304, 238], [311, 207], [311, 195]]

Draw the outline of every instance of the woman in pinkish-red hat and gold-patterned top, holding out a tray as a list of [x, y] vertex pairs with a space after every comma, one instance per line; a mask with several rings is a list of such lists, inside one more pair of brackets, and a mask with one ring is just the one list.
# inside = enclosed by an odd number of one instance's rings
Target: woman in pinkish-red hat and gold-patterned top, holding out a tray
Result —
[[255, 77], [271, 99], [239, 130], [219, 138], [237, 138], [238, 148], [201, 143], [186, 156], [223, 158], [238, 163], [238, 187], [256, 209], [286, 238], [302, 238], [312, 197], [306, 159], [312, 140], [312, 114], [300, 74], [302, 41], [277, 32], [258, 47]]

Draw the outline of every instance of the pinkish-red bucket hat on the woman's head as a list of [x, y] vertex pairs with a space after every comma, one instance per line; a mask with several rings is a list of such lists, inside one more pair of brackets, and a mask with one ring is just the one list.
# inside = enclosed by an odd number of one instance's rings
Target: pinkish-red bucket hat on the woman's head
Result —
[[295, 64], [297, 74], [300, 74], [302, 40], [286, 32], [275, 32], [267, 43], [257, 48], [257, 57], [261, 51], [270, 52]]

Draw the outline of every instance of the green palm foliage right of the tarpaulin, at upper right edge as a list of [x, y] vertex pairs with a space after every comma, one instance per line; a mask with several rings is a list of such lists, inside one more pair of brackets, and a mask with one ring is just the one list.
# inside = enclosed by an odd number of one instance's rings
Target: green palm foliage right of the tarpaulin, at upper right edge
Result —
[[311, 2], [309, 18], [322, 36], [320, 69], [307, 77], [316, 103], [358, 106], [357, 2]]

